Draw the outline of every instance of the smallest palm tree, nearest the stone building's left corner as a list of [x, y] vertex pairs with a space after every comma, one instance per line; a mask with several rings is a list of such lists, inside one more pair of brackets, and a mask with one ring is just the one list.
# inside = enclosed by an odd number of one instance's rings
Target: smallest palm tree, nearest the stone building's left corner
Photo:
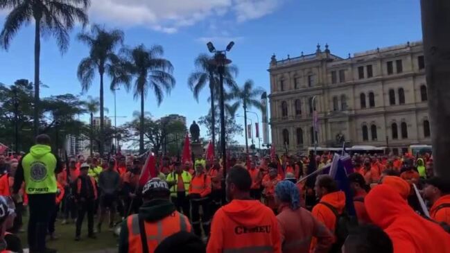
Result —
[[247, 108], [257, 107], [261, 108], [261, 102], [259, 97], [263, 94], [264, 90], [254, 87], [253, 80], [245, 81], [243, 87], [232, 88], [231, 96], [234, 97], [239, 103], [243, 105], [244, 109], [244, 124], [245, 124], [245, 151], [248, 153], [248, 139], [247, 139]]

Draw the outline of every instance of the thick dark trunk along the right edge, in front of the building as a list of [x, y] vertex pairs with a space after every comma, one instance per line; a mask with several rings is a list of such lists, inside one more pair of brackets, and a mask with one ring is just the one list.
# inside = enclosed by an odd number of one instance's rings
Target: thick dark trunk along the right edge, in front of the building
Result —
[[422, 0], [421, 7], [433, 169], [450, 180], [450, 1]]

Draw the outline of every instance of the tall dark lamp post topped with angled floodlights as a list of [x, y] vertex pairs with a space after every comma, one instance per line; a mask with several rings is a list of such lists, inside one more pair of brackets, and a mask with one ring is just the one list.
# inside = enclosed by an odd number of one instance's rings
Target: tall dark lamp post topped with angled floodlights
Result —
[[[225, 143], [225, 98], [223, 90], [223, 74], [225, 73], [225, 66], [232, 61], [227, 59], [226, 53], [229, 52], [234, 46], [234, 42], [230, 42], [227, 48], [223, 51], [216, 51], [216, 48], [212, 42], [207, 43], [209, 53], [214, 53], [214, 58], [210, 60], [210, 64], [217, 67], [220, 79], [220, 147], [222, 150], [222, 166], [223, 166], [223, 178], [227, 177], [227, 151]], [[222, 182], [223, 189], [225, 189], [225, 181]]]

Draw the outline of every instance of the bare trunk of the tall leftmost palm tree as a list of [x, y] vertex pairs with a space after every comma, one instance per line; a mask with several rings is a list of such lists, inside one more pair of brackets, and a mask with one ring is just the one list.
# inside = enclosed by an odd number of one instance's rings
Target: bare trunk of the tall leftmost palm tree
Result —
[[35, 136], [39, 134], [39, 115], [40, 115], [40, 101], [39, 101], [39, 86], [40, 86], [40, 55], [41, 55], [41, 17], [35, 17], [35, 108], [33, 112], [33, 127]]

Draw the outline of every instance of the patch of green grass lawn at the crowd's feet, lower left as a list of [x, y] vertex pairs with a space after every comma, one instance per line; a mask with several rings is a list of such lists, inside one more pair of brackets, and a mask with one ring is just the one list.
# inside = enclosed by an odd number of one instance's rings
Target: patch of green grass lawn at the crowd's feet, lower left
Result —
[[[24, 230], [27, 229], [28, 216], [24, 216]], [[94, 225], [96, 221], [94, 220]], [[83, 221], [83, 227], [81, 229], [81, 241], [75, 241], [75, 225], [61, 225], [61, 220], [56, 221], [56, 232], [59, 236], [56, 241], [47, 241], [47, 247], [58, 250], [58, 252], [116, 252], [117, 250], [117, 238], [112, 232], [107, 231], [107, 224], [103, 224], [101, 234], [96, 234], [96, 239], [87, 238], [87, 218]], [[95, 227], [95, 226], [94, 226]], [[26, 240], [26, 232], [19, 234], [23, 247], [28, 248]], [[107, 250], [107, 251], [105, 251]], [[114, 251], [112, 251], [114, 250]]]

